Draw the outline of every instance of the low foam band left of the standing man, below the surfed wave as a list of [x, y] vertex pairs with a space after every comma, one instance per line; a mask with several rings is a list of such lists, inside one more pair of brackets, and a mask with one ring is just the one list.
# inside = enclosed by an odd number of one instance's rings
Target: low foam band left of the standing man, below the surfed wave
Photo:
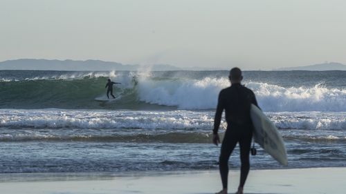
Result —
[[211, 128], [213, 117], [169, 111], [3, 110], [0, 126], [15, 128]]

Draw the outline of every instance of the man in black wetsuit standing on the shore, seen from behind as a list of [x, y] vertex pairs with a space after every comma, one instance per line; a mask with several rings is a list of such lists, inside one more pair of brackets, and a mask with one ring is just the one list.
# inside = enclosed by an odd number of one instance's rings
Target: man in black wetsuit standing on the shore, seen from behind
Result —
[[230, 70], [231, 86], [221, 90], [217, 110], [215, 113], [212, 142], [217, 145], [220, 142], [217, 130], [219, 130], [221, 115], [225, 110], [227, 130], [221, 145], [219, 157], [219, 171], [223, 189], [217, 194], [227, 193], [228, 184], [228, 159], [233, 149], [239, 142], [240, 160], [242, 162], [238, 194], [243, 194], [243, 188], [250, 171], [249, 153], [251, 138], [253, 135], [253, 124], [250, 118], [251, 104], [257, 106], [255, 94], [252, 90], [241, 85], [242, 71], [239, 68]]

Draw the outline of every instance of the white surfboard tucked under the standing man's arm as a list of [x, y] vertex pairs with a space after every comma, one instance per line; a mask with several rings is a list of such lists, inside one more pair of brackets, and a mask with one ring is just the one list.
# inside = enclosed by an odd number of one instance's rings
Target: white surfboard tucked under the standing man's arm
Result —
[[287, 166], [287, 153], [284, 147], [284, 140], [275, 125], [264, 115], [260, 108], [251, 104], [251, 120], [255, 130], [253, 137], [255, 142], [271, 155], [277, 162]]

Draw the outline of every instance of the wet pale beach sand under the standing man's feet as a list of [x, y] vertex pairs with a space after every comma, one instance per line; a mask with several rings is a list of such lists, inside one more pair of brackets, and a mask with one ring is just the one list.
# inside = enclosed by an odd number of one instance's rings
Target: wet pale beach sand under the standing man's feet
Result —
[[[235, 193], [239, 171], [230, 171]], [[251, 171], [245, 193], [346, 192], [346, 168], [299, 168]], [[108, 193], [215, 193], [221, 189], [218, 171], [145, 173], [23, 173], [1, 174], [0, 193], [108, 194]]]

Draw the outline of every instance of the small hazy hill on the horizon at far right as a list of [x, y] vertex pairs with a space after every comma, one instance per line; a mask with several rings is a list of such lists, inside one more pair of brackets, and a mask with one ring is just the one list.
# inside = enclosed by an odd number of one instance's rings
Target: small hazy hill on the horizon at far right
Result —
[[340, 63], [330, 62], [325, 64], [315, 64], [312, 66], [277, 68], [275, 70], [346, 70], [346, 66]]

